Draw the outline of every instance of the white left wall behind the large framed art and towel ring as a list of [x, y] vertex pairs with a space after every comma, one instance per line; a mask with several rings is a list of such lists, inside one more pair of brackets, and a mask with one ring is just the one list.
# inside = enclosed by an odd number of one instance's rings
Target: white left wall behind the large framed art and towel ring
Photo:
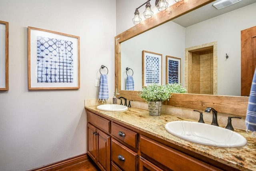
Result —
[[[86, 153], [84, 99], [100, 66], [114, 92], [116, 0], [0, 0], [9, 22], [9, 90], [0, 91], [0, 170], [22, 171]], [[28, 91], [27, 27], [80, 36], [80, 89]]]

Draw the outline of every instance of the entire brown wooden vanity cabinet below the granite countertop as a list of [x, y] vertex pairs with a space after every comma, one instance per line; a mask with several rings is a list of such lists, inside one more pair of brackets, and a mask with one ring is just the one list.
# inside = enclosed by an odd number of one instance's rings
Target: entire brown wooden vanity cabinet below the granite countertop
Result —
[[87, 121], [88, 155], [104, 171], [236, 170], [88, 110]]

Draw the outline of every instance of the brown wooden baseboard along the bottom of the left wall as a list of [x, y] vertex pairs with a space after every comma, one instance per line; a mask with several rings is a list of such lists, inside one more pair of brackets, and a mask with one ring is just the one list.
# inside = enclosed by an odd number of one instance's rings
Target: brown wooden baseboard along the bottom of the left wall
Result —
[[62, 169], [64, 167], [68, 167], [77, 163], [80, 163], [82, 161], [89, 160], [90, 158], [88, 157], [87, 153], [78, 155], [75, 157], [71, 157], [69, 159], [65, 159], [62, 161], [58, 161], [56, 163], [52, 163], [50, 165], [44, 165], [42, 167], [38, 167], [29, 171], [56, 171], [58, 169]]

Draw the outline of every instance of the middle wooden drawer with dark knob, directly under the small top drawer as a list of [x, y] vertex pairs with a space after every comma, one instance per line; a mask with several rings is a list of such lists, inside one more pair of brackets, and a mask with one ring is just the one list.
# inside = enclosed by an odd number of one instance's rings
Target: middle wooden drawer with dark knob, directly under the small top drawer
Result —
[[111, 161], [123, 171], [136, 171], [138, 154], [118, 143], [118, 141], [111, 139]]

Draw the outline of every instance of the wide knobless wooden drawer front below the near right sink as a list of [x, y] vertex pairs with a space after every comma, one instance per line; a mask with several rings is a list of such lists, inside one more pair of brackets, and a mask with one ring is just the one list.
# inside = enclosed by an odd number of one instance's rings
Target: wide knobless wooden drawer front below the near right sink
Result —
[[189, 171], [219, 171], [202, 161], [194, 159], [170, 147], [162, 145], [147, 137], [140, 137], [140, 151], [146, 156], [162, 163], [172, 170], [189, 170]]

